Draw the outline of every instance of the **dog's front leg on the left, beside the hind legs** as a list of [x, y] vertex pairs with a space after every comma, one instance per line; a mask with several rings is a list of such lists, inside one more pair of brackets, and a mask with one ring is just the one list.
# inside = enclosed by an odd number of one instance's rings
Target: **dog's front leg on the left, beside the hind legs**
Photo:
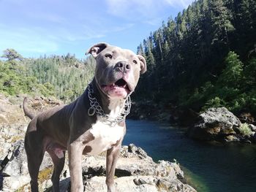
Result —
[[83, 192], [82, 177], [82, 153], [83, 142], [72, 142], [69, 144], [69, 172], [72, 192]]

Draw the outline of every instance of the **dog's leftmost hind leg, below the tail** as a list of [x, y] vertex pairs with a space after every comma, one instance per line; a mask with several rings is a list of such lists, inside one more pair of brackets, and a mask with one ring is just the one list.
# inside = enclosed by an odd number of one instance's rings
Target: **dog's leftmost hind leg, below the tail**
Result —
[[45, 154], [42, 140], [42, 136], [40, 136], [37, 131], [27, 133], [25, 137], [25, 150], [28, 160], [29, 174], [31, 177], [31, 192], [38, 191], [37, 179], [39, 167], [42, 164], [42, 158]]

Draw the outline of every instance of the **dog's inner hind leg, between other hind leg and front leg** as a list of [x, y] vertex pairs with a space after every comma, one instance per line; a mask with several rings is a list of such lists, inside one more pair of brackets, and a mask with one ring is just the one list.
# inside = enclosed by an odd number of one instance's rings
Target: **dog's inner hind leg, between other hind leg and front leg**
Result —
[[56, 153], [53, 152], [53, 150], [48, 150], [47, 152], [50, 154], [54, 164], [53, 175], [51, 177], [51, 181], [53, 183], [53, 191], [59, 192], [59, 177], [65, 163], [65, 152], [61, 151], [61, 153], [63, 153], [61, 158], [59, 158]]

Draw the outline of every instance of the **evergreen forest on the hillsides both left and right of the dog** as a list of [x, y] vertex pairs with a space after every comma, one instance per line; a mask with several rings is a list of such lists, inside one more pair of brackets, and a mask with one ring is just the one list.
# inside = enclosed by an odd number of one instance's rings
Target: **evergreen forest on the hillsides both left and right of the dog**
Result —
[[[134, 100], [173, 104], [197, 112], [225, 106], [256, 112], [256, 1], [198, 0], [162, 22], [138, 46], [146, 58]], [[88, 57], [23, 58], [4, 50], [0, 92], [74, 100], [91, 80]]]

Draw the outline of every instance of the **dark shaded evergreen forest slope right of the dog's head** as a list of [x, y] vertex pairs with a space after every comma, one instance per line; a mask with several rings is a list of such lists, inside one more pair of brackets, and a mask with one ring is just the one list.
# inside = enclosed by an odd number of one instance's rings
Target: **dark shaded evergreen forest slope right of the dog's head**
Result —
[[[138, 46], [138, 97], [197, 112], [256, 112], [256, 1], [198, 0]], [[148, 98], [150, 96], [150, 98]]]

